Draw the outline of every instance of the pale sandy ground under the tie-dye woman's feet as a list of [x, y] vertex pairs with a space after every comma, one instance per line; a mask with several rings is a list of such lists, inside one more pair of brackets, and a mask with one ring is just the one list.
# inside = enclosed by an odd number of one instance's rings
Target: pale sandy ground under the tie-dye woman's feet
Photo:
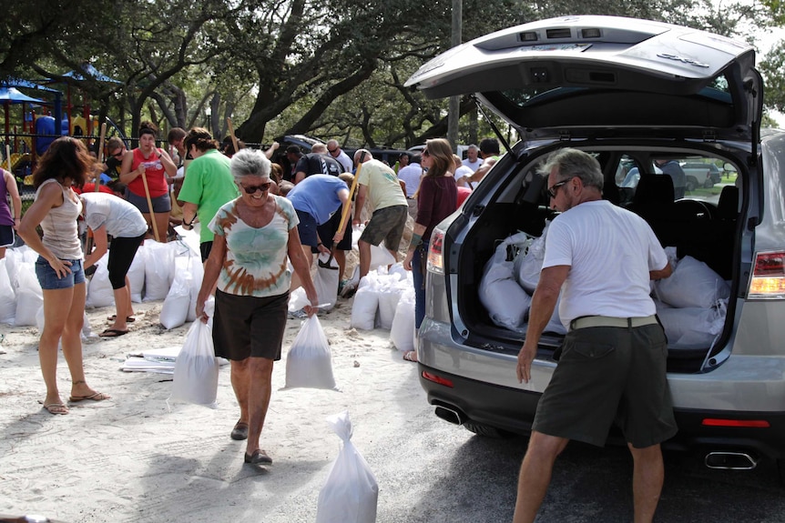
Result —
[[[320, 317], [340, 391], [281, 390], [286, 353], [300, 329], [300, 320], [290, 319], [261, 440], [275, 463], [270, 469], [243, 465], [244, 442], [229, 438], [239, 416], [229, 366], [219, 373], [216, 409], [169, 409], [170, 377], [120, 370], [128, 354], [182, 346], [191, 324], [165, 330], [161, 305], [135, 304], [138, 319], [126, 336], [85, 343], [87, 382], [112, 398], [71, 404], [67, 416], [53, 416], [38, 403], [45, 387], [37, 328], [0, 325], [0, 514], [69, 523], [313, 520], [340, 448], [327, 416], [350, 411], [352, 442], [361, 453], [400, 431], [409, 417], [432, 421], [415, 366], [403, 361], [389, 331], [352, 329], [352, 299], [342, 299]], [[88, 309], [92, 330], [107, 327], [113, 313], [113, 307]], [[66, 399], [70, 377], [62, 355], [58, 384]], [[400, 480], [406, 478], [392, 482]], [[382, 492], [393, 488], [386, 483]], [[302, 518], [286, 516], [291, 508], [282, 507], [292, 499], [302, 506]]]

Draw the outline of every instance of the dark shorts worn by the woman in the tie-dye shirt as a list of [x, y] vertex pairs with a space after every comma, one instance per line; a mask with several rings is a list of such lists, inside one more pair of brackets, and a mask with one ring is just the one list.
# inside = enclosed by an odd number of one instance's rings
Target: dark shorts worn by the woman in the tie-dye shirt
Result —
[[247, 357], [280, 359], [289, 292], [273, 297], [236, 296], [215, 291], [212, 340], [215, 355], [233, 361]]

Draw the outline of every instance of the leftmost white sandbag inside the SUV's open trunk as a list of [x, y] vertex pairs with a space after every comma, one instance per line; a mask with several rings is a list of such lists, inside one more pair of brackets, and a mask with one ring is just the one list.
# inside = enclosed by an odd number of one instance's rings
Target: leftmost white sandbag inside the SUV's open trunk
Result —
[[[513, 277], [513, 261], [507, 261], [507, 246], [520, 240], [510, 236], [496, 247], [494, 256], [485, 263], [477, 293], [495, 325], [515, 329], [524, 323], [532, 297], [525, 293]], [[525, 239], [524, 239], [525, 241]]]

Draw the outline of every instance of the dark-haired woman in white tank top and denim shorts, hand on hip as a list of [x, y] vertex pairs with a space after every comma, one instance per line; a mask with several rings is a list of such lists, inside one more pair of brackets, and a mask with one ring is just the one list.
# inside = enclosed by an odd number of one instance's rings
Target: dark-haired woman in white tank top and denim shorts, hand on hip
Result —
[[[87, 147], [69, 136], [57, 138], [46, 150], [33, 175], [36, 201], [27, 210], [18, 233], [38, 253], [36, 276], [44, 294], [44, 328], [38, 342], [38, 358], [46, 383], [44, 408], [52, 414], [68, 414], [57, 389], [57, 345], [71, 373], [69, 401], [108, 399], [87, 386], [82, 363], [82, 324], [85, 317], [85, 271], [76, 217], [82, 203], [71, 189], [82, 186], [93, 165]], [[44, 236], [39, 237], [36, 226]]]

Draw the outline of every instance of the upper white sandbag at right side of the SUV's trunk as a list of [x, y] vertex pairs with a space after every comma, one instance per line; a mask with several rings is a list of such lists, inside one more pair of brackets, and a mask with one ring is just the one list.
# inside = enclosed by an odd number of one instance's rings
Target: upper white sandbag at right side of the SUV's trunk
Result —
[[673, 307], [710, 308], [730, 297], [730, 287], [704, 262], [684, 256], [670, 277], [655, 284], [655, 295]]

